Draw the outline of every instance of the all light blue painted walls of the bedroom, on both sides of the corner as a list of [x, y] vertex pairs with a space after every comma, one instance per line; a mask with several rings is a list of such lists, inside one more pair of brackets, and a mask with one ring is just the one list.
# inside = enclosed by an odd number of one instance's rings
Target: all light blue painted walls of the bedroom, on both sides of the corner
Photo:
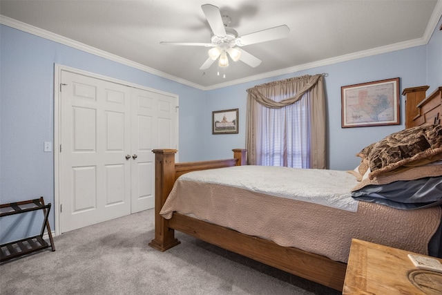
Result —
[[[358, 158], [354, 156], [356, 152], [403, 129], [404, 125], [341, 129], [341, 86], [393, 77], [401, 78], [401, 91], [425, 84], [432, 89], [442, 86], [442, 37], [439, 30], [435, 30], [427, 46], [205, 92], [8, 26], [0, 25], [0, 38], [1, 203], [39, 196], [44, 196], [46, 202], [54, 202], [53, 153], [43, 151], [45, 141], [53, 142], [54, 64], [179, 95], [180, 162], [231, 158], [231, 149], [244, 147], [247, 88], [288, 77], [328, 73], [325, 86], [329, 168], [353, 169], [358, 164]], [[402, 117], [405, 113], [403, 102], [401, 96]], [[240, 132], [212, 135], [211, 112], [228, 108], [240, 109]]]

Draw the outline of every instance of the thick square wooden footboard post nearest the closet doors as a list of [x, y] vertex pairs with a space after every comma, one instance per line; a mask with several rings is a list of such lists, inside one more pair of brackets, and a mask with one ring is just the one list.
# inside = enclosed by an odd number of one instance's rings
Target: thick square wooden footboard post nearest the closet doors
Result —
[[161, 208], [166, 202], [175, 182], [176, 149], [154, 149], [155, 153], [155, 238], [149, 246], [166, 251], [180, 244], [175, 238], [175, 231], [169, 228], [169, 221], [160, 216]]

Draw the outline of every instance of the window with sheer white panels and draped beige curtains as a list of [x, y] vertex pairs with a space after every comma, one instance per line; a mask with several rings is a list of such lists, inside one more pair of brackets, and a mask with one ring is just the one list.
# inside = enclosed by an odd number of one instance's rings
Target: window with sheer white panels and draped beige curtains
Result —
[[323, 75], [247, 89], [248, 164], [325, 169]]

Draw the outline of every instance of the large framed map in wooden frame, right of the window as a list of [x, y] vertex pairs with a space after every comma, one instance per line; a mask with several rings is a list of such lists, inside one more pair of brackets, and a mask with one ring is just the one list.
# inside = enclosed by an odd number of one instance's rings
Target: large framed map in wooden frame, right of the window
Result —
[[343, 128], [401, 124], [399, 78], [342, 86], [340, 92]]

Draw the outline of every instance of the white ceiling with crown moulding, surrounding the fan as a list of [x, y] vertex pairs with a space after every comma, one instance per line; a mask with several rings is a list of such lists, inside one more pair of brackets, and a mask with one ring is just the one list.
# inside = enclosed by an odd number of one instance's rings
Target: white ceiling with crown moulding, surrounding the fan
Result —
[[[199, 70], [208, 48], [160, 41], [210, 42], [201, 9], [205, 3], [229, 15], [240, 36], [286, 24], [289, 37], [244, 46], [262, 60], [256, 68], [231, 62], [226, 78], [217, 75], [216, 63]], [[37, 27], [54, 33], [45, 32], [52, 39], [59, 35], [64, 43], [71, 39], [162, 77], [209, 89], [426, 44], [441, 6], [441, 0], [1, 0], [0, 14], [3, 24]]]

